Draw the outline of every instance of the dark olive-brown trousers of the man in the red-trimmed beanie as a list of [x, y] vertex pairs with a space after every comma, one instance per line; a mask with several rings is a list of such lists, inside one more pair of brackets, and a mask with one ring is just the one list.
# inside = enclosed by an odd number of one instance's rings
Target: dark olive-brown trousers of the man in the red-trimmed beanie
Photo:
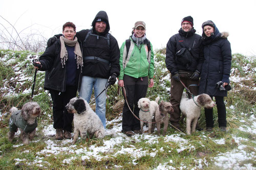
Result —
[[[191, 80], [187, 78], [180, 78], [180, 80], [185, 84], [185, 86], [192, 94], [198, 95], [199, 80]], [[173, 105], [174, 108], [174, 112], [170, 114], [170, 123], [175, 127], [180, 127], [180, 101], [184, 86], [181, 84], [180, 81], [176, 81], [173, 78], [171, 79], [170, 86], [170, 103]]]

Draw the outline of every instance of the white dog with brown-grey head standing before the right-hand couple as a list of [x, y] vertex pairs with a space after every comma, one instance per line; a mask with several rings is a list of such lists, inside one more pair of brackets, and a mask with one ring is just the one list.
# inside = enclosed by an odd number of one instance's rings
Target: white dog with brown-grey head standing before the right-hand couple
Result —
[[[186, 93], [183, 92], [182, 98], [180, 101], [180, 110], [181, 113], [186, 117], [186, 133], [188, 135], [191, 132], [196, 131], [196, 125], [198, 118], [201, 113], [201, 107], [212, 108], [215, 106], [214, 101], [211, 100], [208, 94], [200, 94], [194, 97], [194, 99], [188, 99]], [[192, 123], [193, 122], [193, 123]], [[192, 130], [191, 130], [192, 123]]]

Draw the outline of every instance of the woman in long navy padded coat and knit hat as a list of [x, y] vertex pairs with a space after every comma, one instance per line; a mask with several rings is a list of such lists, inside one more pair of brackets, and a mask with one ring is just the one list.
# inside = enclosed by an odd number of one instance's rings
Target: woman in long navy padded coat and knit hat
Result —
[[[215, 23], [205, 21], [202, 25], [202, 43], [204, 45], [204, 62], [201, 71], [199, 94], [215, 96], [218, 123], [221, 131], [226, 132], [226, 106], [229, 74], [231, 69], [231, 48], [227, 40], [228, 33], [220, 33]], [[205, 109], [206, 130], [214, 127], [212, 109]]]

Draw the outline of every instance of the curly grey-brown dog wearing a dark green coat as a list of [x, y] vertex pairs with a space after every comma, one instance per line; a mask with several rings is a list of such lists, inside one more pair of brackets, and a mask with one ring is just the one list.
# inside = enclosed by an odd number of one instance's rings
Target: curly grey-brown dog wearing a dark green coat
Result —
[[20, 130], [20, 138], [24, 144], [29, 144], [29, 139], [32, 140], [35, 136], [37, 127], [37, 117], [41, 113], [40, 106], [36, 102], [28, 102], [23, 105], [22, 110], [15, 107], [11, 108], [11, 117], [9, 119], [9, 141], [13, 140], [15, 132]]

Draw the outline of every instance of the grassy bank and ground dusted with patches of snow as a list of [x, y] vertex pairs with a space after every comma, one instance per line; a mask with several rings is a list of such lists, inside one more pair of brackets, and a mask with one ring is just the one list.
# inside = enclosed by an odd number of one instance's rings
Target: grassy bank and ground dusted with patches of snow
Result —
[[[169, 101], [170, 74], [165, 67], [165, 49], [155, 52], [155, 85], [147, 98]], [[214, 108], [213, 132], [184, 135], [168, 128], [166, 136], [143, 134], [127, 137], [121, 131], [123, 96], [117, 84], [108, 89], [107, 136], [104, 139], [57, 141], [52, 127], [52, 103], [43, 88], [45, 72], [38, 71], [33, 101], [42, 114], [37, 135], [29, 145], [15, 136], [7, 139], [9, 109], [31, 101], [35, 70], [32, 60], [40, 54], [0, 50], [0, 168], [2, 169], [255, 169], [256, 76], [255, 57], [232, 55], [231, 87], [225, 103], [227, 133], [220, 132]], [[94, 104], [91, 105], [94, 107]], [[202, 110], [199, 120], [205, 128]], [[146, 128], [146, 127], [144, 127]], [[185, 126], [183, 126], [185, 128]]]

